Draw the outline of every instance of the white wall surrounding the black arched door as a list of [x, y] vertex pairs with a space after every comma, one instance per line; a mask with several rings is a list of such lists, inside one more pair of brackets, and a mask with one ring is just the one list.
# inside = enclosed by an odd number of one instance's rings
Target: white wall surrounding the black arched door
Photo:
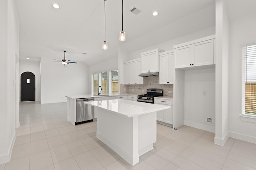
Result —
[[[41, 101], [41, 78], [40, 78], [40, 61], [20, 60], [19, 80], [24, 72], [32, 72], [36, 76], [36, 101]], [[19, 83], [20, 84], [20, 83]], [[20, 92], [20, 90], [19, 90]], [[20, 93], [19, 93], [20, 96]], [[19, 97], [20, 99], [20, 97]]]

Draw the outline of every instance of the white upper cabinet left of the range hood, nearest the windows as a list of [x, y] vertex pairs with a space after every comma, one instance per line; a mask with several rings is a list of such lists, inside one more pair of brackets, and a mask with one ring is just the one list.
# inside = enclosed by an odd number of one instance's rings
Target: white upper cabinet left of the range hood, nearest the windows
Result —
[[141, 59], [124, 62], [124, 84], [143, 84], [141, 73]]

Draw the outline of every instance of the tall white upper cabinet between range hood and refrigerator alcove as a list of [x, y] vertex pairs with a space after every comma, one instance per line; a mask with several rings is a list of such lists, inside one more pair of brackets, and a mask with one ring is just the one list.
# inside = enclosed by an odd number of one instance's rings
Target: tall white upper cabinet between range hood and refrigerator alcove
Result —
[[174, 83], [174, 54], [166, 51], [159, 54], [159, 84]]

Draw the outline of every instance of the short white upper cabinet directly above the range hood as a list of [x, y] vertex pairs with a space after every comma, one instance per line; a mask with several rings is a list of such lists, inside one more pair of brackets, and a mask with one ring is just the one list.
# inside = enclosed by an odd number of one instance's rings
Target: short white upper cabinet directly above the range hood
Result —
[[159, 71], [159, 53], [161, 49], [154, 49], [141, 53], [141, 73]]

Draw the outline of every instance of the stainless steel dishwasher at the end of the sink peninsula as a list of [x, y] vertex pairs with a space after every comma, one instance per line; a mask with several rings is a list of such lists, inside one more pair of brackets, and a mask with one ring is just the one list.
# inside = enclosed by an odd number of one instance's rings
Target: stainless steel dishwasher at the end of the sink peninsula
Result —
[[94, 118], [94, 107], [86, 102], [94, 101], [94, 98], [76, 99], [76, 125], [92, 121]]

